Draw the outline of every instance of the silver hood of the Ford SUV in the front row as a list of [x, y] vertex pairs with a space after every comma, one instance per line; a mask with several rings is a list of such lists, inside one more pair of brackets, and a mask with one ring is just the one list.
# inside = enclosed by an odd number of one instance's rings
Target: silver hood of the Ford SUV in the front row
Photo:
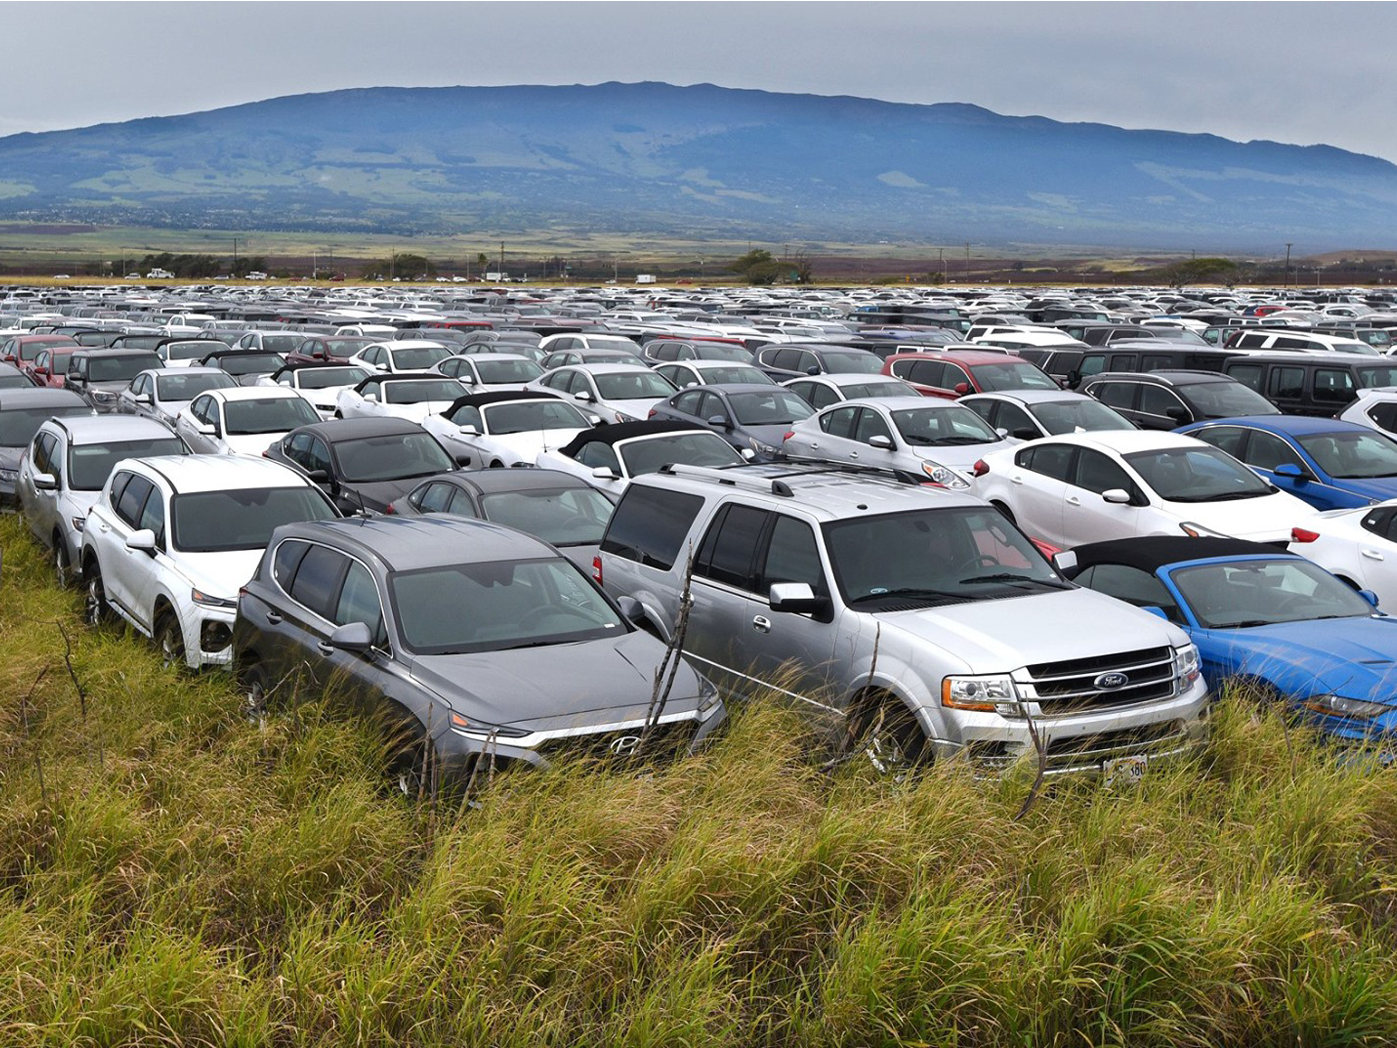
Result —
[[1183, 630], [1091, 590], [1045, 590], [907, 612], [877, 612], [884, 641], [898, 630], [964, 660], [965, 671], [1004, 674], [1038, 662], [1183, 644]]

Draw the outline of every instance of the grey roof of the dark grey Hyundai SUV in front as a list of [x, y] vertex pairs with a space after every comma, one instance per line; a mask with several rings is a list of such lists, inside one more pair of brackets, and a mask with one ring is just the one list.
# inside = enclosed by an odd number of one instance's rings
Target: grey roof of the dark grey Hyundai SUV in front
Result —
[[317, 520], [277, 530], [277, 539], [307, 538], [376, 559], [390, 572], [496, 560], [560, 559], [550, 545], [522, 531], [446, 514]]

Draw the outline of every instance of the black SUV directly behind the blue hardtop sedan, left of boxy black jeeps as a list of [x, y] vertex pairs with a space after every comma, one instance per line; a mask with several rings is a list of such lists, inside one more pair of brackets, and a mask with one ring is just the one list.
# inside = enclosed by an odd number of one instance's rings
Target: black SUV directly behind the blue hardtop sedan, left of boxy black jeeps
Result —
[[1210, 372], [1105, 372], [1083, 381], [1080, 391], [1115, 408], [1140, 429], [1176, 429], [1214, 418], [1281, 414], [1236, 379]]

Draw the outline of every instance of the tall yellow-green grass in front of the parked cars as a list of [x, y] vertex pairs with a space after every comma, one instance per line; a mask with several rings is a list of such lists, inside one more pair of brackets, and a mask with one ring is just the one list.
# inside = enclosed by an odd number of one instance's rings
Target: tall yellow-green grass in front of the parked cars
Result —
[[759, 707], [432, 806], [319, 697], [250, 724], [0, 549], [0, 1044], [1397, 1040], [1394, 773], [1242, 701], [1021, 820], [1023, 778], [827, 774]]

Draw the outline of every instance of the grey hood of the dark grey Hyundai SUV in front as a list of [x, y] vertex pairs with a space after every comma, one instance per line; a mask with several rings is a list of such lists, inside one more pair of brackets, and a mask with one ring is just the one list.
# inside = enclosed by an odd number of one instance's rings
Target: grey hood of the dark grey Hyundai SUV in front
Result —
[[[615, 640], [418, 655], [412, 676], [471, 721], [567, 731], [644, 718], [662, 657], [658, 640], [634, 630]], [[682, 664], [665, 713], [693, 711], [697, 696], [697, 675]]]

